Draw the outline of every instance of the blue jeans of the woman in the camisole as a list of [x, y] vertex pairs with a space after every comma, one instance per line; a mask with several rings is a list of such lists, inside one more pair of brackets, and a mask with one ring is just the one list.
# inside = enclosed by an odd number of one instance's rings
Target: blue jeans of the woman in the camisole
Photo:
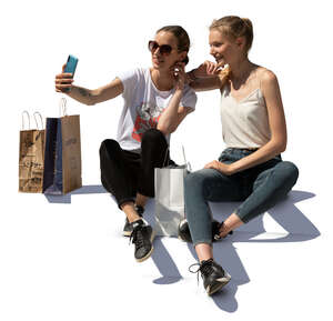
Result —
[[[235, 162], [254, 152], [245, 149], [225, 149], [219, 161]], [[214, 169], [192, 172], [184, 180], [185, 213], [193, 244], [212, 243], [211, 202], [243, 201], [235, 214], [246, 223], [284, 199], [299, 178], [297, 168], [281, 156], [225, 175]]]

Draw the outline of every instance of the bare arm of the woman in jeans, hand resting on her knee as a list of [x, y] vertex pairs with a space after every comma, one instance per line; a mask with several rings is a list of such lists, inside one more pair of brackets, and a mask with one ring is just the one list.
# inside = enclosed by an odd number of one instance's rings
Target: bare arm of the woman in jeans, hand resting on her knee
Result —
[[262, 92], [268, 108], [269, 123], [271, 129], [270, 141], [261, 147], [258, 151], [232, 164], [224, 164], [213, 161], [206, 164], [205, 168], [215, 168], [225, 174], [233, 174], [263, 163], [285, 150], [286, 124], [279, 82], [276, 76], [269, 70], [265, 70], [262, 74]]

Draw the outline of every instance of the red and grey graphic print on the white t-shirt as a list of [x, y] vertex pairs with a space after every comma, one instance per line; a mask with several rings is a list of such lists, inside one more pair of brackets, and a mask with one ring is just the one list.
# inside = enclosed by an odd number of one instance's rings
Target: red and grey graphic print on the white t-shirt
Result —
[[132, 132], [132, 138], [141, 142], [142, 134], [151, 129], [157, 128], [163, 108], [152, 102], [142, 102], [137, 107], [137, 119]]

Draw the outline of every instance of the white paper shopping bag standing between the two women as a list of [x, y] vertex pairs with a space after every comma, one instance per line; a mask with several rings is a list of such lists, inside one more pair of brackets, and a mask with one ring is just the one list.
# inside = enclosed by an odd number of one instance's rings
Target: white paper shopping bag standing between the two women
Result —
[[[184, 152], [183, 152], [184, 153]], [[184, 219], [184, 177], [190, 164], [154, 169], [157, 235], [178, 237], [178, 227]]]

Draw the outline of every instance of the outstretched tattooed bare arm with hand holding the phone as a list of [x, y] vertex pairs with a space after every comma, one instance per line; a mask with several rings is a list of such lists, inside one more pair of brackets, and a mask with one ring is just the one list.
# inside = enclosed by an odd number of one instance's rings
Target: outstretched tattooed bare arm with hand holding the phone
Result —
[[115, 98], [123, 92], [123, 84], [119, 78], [94, 90], [73, 86], [72, 74], [63, 72], [64, 67], [65, 64], [62, 67], [62, 73], [56, 76], [56, 91], [65, 93], [81, 103], [95, 104]]

